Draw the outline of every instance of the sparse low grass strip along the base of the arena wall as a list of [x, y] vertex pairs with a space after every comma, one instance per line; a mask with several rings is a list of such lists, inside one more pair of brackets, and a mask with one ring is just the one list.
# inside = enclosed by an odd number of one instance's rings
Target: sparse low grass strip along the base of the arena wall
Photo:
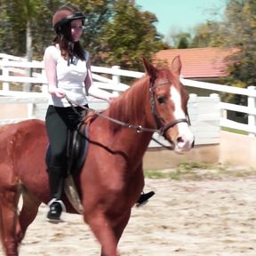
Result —
[[204, 164], [198, 162], [182, 163], [176, 168], [161, 171], [146, 171], [149, 179], [170, 180], [224, 180], [256, 177], [256, 169], [246, 169], [228, 164]]

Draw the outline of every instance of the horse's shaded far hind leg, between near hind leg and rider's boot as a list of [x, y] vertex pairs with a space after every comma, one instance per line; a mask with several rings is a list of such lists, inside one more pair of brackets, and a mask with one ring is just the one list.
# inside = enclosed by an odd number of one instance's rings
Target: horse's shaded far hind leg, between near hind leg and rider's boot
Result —
[[41, 201], [39, 201], [35, 196], [31, 195], [31, 193], [29, 193], [27, 189], [22, 190], [22, 199], [23, 204], [19, 216], [20, 227], [18, 227], [16, 233], [16, 237], [19, 243], [24, 238], [26, 230], [30, 223], [35, 220], [38, 212], [38, 207], [41, 204]]

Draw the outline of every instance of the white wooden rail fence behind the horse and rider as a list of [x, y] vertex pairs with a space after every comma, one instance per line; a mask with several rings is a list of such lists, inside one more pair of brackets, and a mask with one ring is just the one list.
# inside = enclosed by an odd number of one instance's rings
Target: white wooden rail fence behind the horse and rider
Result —
[[[32, 68], [33, 72], [28, 72]], [[41, 61], [28, 62], [22, 58], [13, 57], [0, 53], [0, 104], [25, 104], [28, 108], [28, 116], [20, 118], [5, 117], [0, 124], [10, 124], [19, 122], [24, 118], [44, 119], [45, 108], [47, 106], [47, 85], [44, 76], [44, 65]], [[32, 74], [28, 76], [27, 74]], [[100, 76], [102, 75], [103, 76]], [[124, 92], [129, 85], [120, 83], [121, 76], [140, 78], [144, 73], [133, 72], [120, 69], [115, 66], [112, 68], [100, 68], [92, 66], [92, 78], [94, 85], [101, 90], [108, 90], [113, 94]], [[220, 102], [218, 94], [213, 93], [208, 97], [197, 97], [196, 94], [190, 95], [188, 102], [188, 112], [192, 123], [192, 131], [196, 135], [196, 144], [215, 144], [220, 142], [220, 126], [239, 129], [248, 132], [250, 135], [256, 134], [256, 90], [254, 86], [248, 89], [235, 88], [227, 85], [203, 83], [180, 78], [182, 84], [190, 87], [203, 88], [214, 92], [229, 92], [248, 97], [248, 106], [237, 106], [234, 104]], [[13, 92], [10, 84], [20, 84], [20, 91], [23, 84], [36, 84], [41, 88], [41, 92]], [[2, 96], [2, 97], [1, 97]], [[103, 100], [96, 100], [88, 97], [91, 108], [107, 108], [108, 103]], [[3, 108], [2, 108], [3, 109]], [[239, 111], [248, 115], [248, 124], [240, 124], [228, 120], [225, 110]], [[2, 111], [1, 111], [2, 112]], [[156, 135], [154, 135], [156, 136]], [[154, 144], [154, 143], [153, 143]]]

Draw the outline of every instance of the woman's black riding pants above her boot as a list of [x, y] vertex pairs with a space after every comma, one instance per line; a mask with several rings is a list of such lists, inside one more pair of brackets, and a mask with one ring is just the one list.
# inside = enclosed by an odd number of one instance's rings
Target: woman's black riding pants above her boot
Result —
[[[75, 108], [80, 114], [84, 111], [84, 108]], [[45, 124], [50, 142], [48, 169], [60, 170], [63, 174], [67, 172], [68, 131], [72, 132], [76, 129], [81, 117], [76, 111], [71, 107], [61, 108], [52, 105], [47, 109]]]

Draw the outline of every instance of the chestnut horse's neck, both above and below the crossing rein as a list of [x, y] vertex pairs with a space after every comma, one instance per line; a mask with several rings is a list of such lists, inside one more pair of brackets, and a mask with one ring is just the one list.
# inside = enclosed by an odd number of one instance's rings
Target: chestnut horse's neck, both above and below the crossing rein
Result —
[[132, 86], [134, 87], [129, 92], [124, 93], [110, 106], [108, 115], [123, 122], [123, 124], [111, 122], [110, 128], [114, 131], [116, 140], [132, 141], [133, 145], [131, 143], [127, 145], [127, 148], [129, 146], [134, 148], [135, 143], [140, 143], [141, 148], [147, 148], [152, 132], [140, 132], [136, 130], [136, 127], [140, 125], [142, 128], [155, 128], [154, 117], [150, 109], [148, 85], [144, 82], [144, 84]]

